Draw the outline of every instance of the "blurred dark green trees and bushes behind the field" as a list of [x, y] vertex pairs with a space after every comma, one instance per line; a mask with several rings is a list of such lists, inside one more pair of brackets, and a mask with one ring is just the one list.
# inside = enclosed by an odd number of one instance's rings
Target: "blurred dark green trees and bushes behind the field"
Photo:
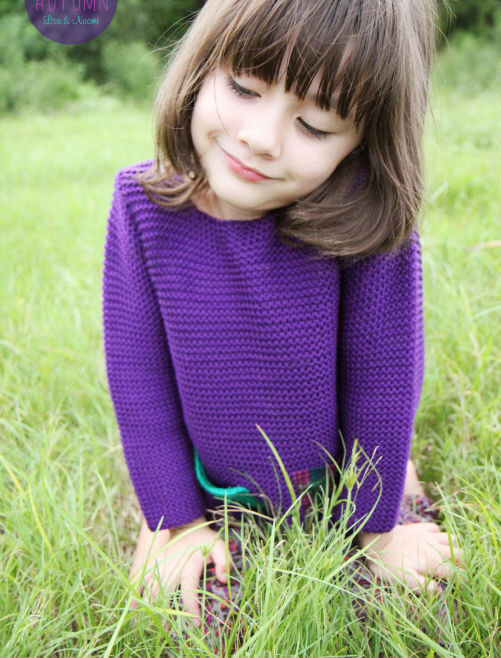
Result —
[[[115, 17], [98, 38], [63, 45], [43, 37], [24, 2], [0, 0], [0, 114], [54, 111], [90, 99], [119, 97], [151, 104], [169, 44], [203, 0], [119, 0]], [[498, 0], [440, 4], [440, 44], [454, 37], [499, 41]]]

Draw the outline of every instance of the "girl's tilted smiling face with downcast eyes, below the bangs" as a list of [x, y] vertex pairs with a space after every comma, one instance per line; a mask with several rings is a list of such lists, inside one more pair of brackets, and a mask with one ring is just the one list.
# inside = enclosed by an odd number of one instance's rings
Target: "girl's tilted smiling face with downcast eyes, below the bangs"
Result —
[[[281, 78], [282, 80], [283, 78]], [[204, 80], [191, 135], [210, 186], [196, 205], [220, 219], [255, 219], [319, 187], [362, 138], [352, 118], [219, 67]], [[254, 171], [251, 171], [254, 170]]]

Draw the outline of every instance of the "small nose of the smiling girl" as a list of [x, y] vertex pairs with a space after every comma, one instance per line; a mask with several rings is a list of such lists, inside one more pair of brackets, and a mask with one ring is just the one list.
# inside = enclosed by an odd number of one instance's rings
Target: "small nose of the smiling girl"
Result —
[[279, 113], [253, 108], [242, 118], [238, 140], [255, 155], [277, 159], [282, 152], [284, 121]]

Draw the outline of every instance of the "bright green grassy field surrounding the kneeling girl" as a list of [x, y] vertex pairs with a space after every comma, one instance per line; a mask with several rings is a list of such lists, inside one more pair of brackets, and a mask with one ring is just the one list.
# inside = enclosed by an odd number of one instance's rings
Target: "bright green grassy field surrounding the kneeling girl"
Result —
[[[339, 531], [270, 526], [259, 539], [249, 523], [239, 656], [501, 655], [500, 61], [468, 41], [441, 57], [426, 137], [427, 370], [413, 457], [465, 568], [442, 614], [431, 595], [396, 588], [379, 607], [368, 595], [362, 626]], [[112, 99], [0, 121], [1, 657], [153, 657], [165, 646], [164, 600], [127, 612], [139, 509], [101, 335], [113, 176], [151, 157], [151, 135], [149, 108]], [[194, 637], [199, 648], [181, 655], [213, 655]]]

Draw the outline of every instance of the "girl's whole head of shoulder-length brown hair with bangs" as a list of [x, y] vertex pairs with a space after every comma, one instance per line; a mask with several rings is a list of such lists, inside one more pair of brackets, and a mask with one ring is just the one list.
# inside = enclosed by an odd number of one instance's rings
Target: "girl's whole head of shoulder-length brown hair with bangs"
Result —
[[325, 183], [278, 212], [278, 235], [327, 256], [398, 247], [423, 195], [435, 11], [434, 0], [208, 0], [158, 90], [155, 161], [137, 177], [146, 195], [181, 208], [207, 188], [190, 123], [209, 72], [224, 62], [272, 84], [287, 61], [287, 91], [304, 98], [320, 71], [317, 103], [327, 108], [339, 89], [338, 113], [353, 108], [364, 136]]

